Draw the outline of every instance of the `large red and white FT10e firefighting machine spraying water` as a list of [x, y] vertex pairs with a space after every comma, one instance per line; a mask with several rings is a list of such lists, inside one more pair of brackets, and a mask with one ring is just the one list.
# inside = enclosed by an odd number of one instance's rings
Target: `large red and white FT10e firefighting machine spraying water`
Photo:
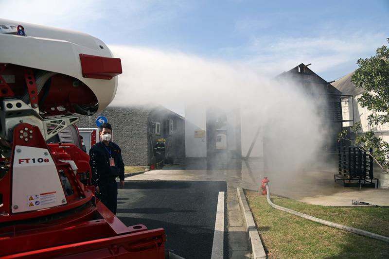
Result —
[[1, 258], [165, 258], [162, 228], [127, 227], [96, 199], [86, 153], [47, 144], [103, 110], [120, 73], [95, 37], [0, 19]]

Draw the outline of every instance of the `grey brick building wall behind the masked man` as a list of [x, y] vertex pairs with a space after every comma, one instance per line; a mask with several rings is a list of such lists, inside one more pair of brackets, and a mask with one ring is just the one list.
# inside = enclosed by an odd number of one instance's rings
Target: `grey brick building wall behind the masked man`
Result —
[[[153, 147], [158, 138], [166, 139], [166, 156], [174, 160], [185, 157], [184, 119], [162, 106], [109, 106], [91, 117], [80, 116], [79, 128], [96, 128], [95, 120], [105, 116], [112, 125], [113, 142], [122, 149], [125, 165], [148, 166], [155, 163]], [[173, 135], [165, 132], [166, 120], [173, 120]], [[150, 134], [150, 122], [161, 124], [161, 135]]]

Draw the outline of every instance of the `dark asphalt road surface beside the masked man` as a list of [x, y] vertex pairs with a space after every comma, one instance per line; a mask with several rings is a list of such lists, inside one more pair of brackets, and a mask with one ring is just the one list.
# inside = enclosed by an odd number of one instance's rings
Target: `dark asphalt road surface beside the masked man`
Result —
[[[226, 182], [126, 181], [119, 189], [117, 216], [127, 226], [163, 227], [166, 249], [186, 259], [207, 259], [212, 253], [219, 191], [227, 196]], [[225, 229], [226, 215], [225, 211]], [[225, 232], [225, 258], [227, 241]]]

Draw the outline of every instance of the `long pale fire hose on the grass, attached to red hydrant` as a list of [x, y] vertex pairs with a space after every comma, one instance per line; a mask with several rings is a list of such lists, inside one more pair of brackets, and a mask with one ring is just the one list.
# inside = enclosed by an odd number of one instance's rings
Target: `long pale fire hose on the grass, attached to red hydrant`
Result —
[[274, 204], [270, 200], [270, 191], [269, 191], [268, 184], [266, 184], [266, 191], [267, 191], [267, 203], [271, 207], [274, 207], [276, 209], [279, 209], [279, 210], [291, 213], [293, 215], [296, 215], [296, 216], [299, 216], [301, 218], [304, 218], [304, 219], [307, 219], [307, 220], [311, 220], [311, 221], [314, 221], [314, 222], [317, 222], [317, 223], [320, 223], [320, 224], [323, 224], [323, 225], [336, 227], [336, 228], [339, 228], [339, 229], [342, 229], [342, 230], [346, 230], [346, 231], [349, 231], [349, 232], [352, 232], [352, 233], [355, 233], [355, 234], [358, 234], [358, 235], [361, 235], [361, 236], [370, 237], [370, 238], [373, 238], [373, 239], [378, 239], [378, 240], [382, 240], [382, 241], [385, 241], [385, 242], [389, 242], [389, 237], [381, 236], [381, 235], [378, 235], [378, 234], [375, 234], [375, 233], [371, 233], [369, 231], [365, 231], [365, 230], [362, 230], [362, 229], [354, 228], [354, 227], [351, 227], [351, 226], [345, 226], [345, 225], [337, 224], [337, 223], [334, 223], [334, 222], [322, 220], [322, 219], [315, 218], [315, 217], [309, 216], [307, 214], [304, 214], [304, 213], [301, 213], [301, 212], [298, 212], [298, 211], [295, 211], [295, 210], [292, 210], [292, 209], [289, 209], [289, 208], [278, 206], [278, 205]]

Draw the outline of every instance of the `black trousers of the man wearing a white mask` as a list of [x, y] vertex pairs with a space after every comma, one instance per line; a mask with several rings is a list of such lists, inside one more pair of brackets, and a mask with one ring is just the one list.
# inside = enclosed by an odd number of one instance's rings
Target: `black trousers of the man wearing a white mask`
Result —
[[100, 193], [97, 198], [116, 215], [116, 207], [118, 202], [118, 183], [115, 178], [99, 181]]

